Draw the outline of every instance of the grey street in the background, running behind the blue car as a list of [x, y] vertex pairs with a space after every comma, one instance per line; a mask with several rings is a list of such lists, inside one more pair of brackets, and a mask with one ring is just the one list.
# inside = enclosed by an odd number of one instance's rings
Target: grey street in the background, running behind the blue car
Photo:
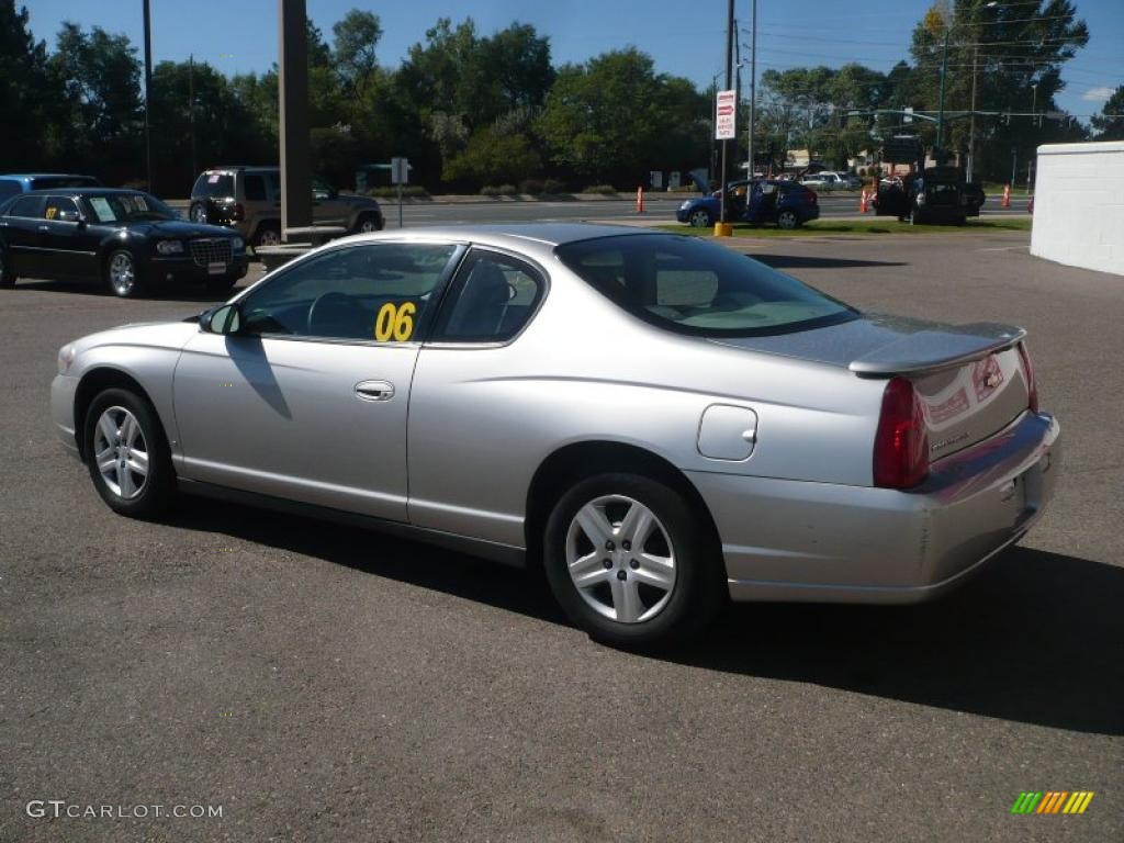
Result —
[[[380, 200], [387, 217], [387, 226], [398, 226], [398, 206], [393, 200]], [[665, 219], [674, 223], [678, 201], [669, 199], [649, 199], [645, 203], [645, 219]], [[998, 197], [989, 197], [984, 207], [984, 216], [1022, 215], [1026, 212], [1026, 200], [1012, 200], [1010, 208], [999, 207]], [[821, 217], [851, 217], [859, 214], [859, 199], [852, 196], [819, 194]], [[873, 218], [873, 211], [868, 216]], [[402, 221], [408, 227], [450, 225], [456, 223], [526, 223], [538, 221], [575, 221], [589, 220], [611, 223], [635, 220], [636, 203], [634, 200], [597, 200], [597, 201], [511, 201], [496, 200], [491, 202], [418, 202], [402, 205]]]

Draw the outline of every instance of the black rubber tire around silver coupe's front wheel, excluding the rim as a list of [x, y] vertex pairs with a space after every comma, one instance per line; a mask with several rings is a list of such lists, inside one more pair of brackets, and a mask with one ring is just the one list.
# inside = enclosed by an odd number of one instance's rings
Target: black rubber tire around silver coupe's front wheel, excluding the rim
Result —
[[[148, 457], [147, 475], [143, 484], [138, 484], [138, 493], [132, 498], [123, 497], [119, 491], [110, 488], [99, 466], [97, 450], [99, 419], [102, 414], [114, 408], [128, 410], [136, 419], [144, 442], [144, 452]], [[83, 420], [82, 435], [83, 453], [93, 488], [110, 509], [130, 518], [152, 518], [171, 504], [175, 497], [175, 470], [172, 468], [171, 451], [167, 447], [164, 429], [146, 398], [128, 389], [103, 390], [90, 404]], [[119, 454], [116, 454], [115, 459], [117, 456]], [[135, 482], [136, 474], [133, 477]]]

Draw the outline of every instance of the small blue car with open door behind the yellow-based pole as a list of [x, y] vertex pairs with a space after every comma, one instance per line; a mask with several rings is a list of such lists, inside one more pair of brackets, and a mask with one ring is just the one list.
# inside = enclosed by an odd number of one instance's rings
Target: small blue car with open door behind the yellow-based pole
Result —
[[[758, 179], [729, 183], [731, 202], [726, 215], [735, 223], [773, 223], [796, 228], [819, 218], [815, 191], [792, 181]], [[688, 199], [676, 210], [676, 219], [695, 228], [709, 228], [718, 220], [720, 193]]]

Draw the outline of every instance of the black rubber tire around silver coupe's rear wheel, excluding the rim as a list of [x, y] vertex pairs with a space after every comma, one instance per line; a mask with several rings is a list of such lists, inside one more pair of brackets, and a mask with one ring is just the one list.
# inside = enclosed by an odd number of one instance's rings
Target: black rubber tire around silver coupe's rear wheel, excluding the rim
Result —
[[[600, 614], [570, 577], [566, 536], [571, 522], [579, 509], [606, 496], [624, 496], [651, 510], [667, 533], [676, 560], [676, 580], [665, 605], [653, 617], [636, 623]], [[704, 524], [679, 492], [649, 477], [610, 473], [582, 480], [562, 496], [546, 522], [543, 563], [551, 591], [577, 626], [605, 644], [650, 649], [687, 641], [717, 616], [728, 597], [718, 543]], [[629, 571], [622, 564], [613, 575], [625, 579]]]

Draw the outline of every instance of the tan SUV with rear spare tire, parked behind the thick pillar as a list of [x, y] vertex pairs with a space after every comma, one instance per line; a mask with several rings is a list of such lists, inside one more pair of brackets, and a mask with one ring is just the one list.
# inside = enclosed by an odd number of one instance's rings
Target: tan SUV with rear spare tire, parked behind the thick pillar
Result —
[[[281, 242], [281, 170], [275, 166], [221, 166], [203, 171], [191, 189], [189, 216], [197, 223], [233, 226], [253, 246]], [[360, 234], [382, 229], [379, 203], [341, 193], [312, 176], [312, 221]]]

